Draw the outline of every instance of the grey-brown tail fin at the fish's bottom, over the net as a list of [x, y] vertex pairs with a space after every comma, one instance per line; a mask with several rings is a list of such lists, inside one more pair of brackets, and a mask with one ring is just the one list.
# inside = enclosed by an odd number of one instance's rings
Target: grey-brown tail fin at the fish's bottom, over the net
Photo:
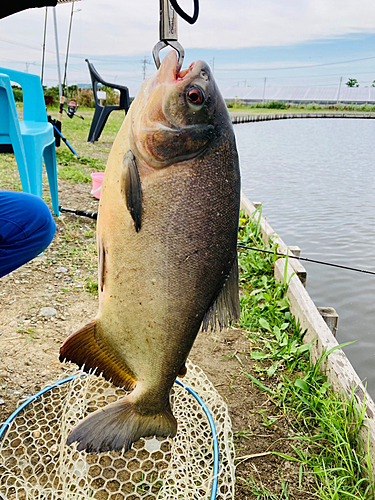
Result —
[[131, 399], [128, 395], [88, 415], [71, 430], [67, 444], [77, 441], [77, 449], [87, 453], [128, 451], [141, 437], [176, 435], [177, 421], [169, 403], [162, 413], [142, 415]]

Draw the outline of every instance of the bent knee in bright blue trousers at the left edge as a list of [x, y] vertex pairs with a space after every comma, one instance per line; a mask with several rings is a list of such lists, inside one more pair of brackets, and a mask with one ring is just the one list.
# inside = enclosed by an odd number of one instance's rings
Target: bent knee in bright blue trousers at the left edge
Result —
[[43, 200], [0, 191], [0, 278], [43, 252], [55, 232], [55, 221]]

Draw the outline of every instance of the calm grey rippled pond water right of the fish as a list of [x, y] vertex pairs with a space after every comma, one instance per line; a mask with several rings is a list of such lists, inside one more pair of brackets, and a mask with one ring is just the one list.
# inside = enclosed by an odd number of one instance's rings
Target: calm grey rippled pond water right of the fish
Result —
[[[234, 126], [242, 190], [301, 256], [375, 272], [375, 120]], [[339, 314], [337, 340], [375, 397], [375, 276], [303, 262], [314, 303]]]

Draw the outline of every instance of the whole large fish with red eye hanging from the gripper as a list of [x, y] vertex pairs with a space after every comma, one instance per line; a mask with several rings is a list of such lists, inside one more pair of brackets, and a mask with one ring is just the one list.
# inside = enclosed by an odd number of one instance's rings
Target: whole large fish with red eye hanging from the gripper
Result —
[[61, 361], [130, 391], [70, 432], [79, 451], [174, 437], [176, 377], [202, 328], [237, 321], [240, 170], [229, 112], [207, 63], [169, 52], [113, 143], [97, 220], [99, 309]]

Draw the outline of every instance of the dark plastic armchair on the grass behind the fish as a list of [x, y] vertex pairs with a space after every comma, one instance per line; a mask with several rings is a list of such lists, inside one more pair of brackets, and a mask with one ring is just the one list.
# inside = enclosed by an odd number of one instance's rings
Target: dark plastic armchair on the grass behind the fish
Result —
[[[89, 138], [87, 139], [87, 142], [95, 142], [99, 139], [100, 134], [102, 133], [102, 130], [104, 128], [104, 125], [106, 124], [106, 121], [108, 119], [109, 114], [111, 111], [116, 111], [116, 110], [121, 110], [123, 109], [125, 113], [128, 112], [129, 106], [130, 106], [130, 99], [129, 99], [129, 89], [127, 87], [123, 87], [121, 85], [115, 85], [113, 83], [108, 83], [105, 82], [102, 77], [99, 75], [99, 73], [96, 71], [94, 66], [90, 63], [88, 59], [85, 59], [89, 66], [89, 71], [90, 71], [90, 76], [91, 76], [91, 81], [92, 81], [92, 90], [94, 92], [94, 99], [95, 99], [95, 113], [94, 117], [92, 119], [91, 127], [90, 127], [90, 132], [89, 132]], [[102, 106], [99, 102], [98, 96], [97, 96], [97, 91], [98, 91], [98, 84], [105, 85], [106, 87], [111, 87], [113, 89], [117, 89], [120, 91], [120, 104], [117, 106]]]

